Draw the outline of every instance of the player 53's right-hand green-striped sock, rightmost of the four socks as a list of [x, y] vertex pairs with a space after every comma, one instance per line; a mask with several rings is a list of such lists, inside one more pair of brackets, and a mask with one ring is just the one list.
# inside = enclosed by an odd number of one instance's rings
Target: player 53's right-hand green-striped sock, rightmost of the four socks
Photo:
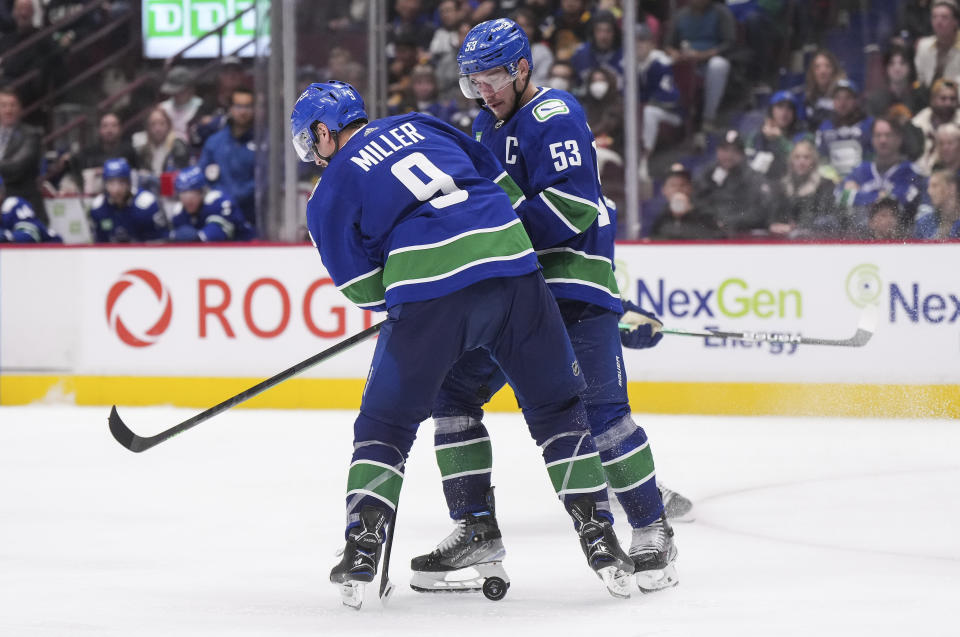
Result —
[[630, 526], [640, 528], [663, 512], [657, 490], [653, 453], [647, 434], [630, 416], [594, 436], [610, 490], [627, 514]]

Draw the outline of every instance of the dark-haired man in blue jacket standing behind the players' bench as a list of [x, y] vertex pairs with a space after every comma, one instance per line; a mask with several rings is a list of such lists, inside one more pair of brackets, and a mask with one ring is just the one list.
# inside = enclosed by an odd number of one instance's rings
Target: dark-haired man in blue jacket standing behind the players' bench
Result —
[[207, 139], [199, 161], [207, 182], [230, 197], [251, 224], [256, 220], [253, 116], [253, 92], [234, 89], [227, 125]]

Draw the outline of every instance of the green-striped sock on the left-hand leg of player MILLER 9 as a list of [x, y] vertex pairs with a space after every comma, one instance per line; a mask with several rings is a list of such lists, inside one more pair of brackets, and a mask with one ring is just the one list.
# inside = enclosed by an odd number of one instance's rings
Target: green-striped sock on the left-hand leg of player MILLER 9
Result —
[[354, 444], [347, 473], [347, 528], [360, 524], [364, 506], [386, 509], [393, 519], [403, 486], [404, 457], [393, 445], [371, 440]]

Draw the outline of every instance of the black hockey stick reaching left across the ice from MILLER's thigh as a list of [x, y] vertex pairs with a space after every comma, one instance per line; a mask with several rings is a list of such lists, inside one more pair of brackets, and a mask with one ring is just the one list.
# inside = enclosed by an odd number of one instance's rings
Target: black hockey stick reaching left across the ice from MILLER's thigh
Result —
[[226, 411], [235, 405], [239, 405], [244, 401], [250, 400], [257, 394], [260, 394], [270, 389], [274, 385], [279, 385], [280, 383], [287, 380], [288, 378], [291, 378], [292, 376], [296, 376], [300, 372], [313, 367], [317, 363], [321, 363], [327, 360], [328, 358], [332, 358], [337, 354], [339, 354], [340, 352], [343, 352], [344, 350], [347, 350], [353, 347], [357, 343], [361, 343], [367, 340], [368, 338], [370, 338], [371, 336], [379, 332], [380, 328], [383, 326], [384, 323], [385, 321], [381, 321], [376, 325], [371, 325], [370, 327], [363, 330], [362, 332], [358, 332], [357, 334], [354, 334], [353, 336], [340, 341], [336, 345], [323, 350], [319, 354], [314, 354], [307, 360], [301, 361], [296, 365], [294, 365], [293, 367], [285, 369], [279, 374], [275, 376], [271, 376], [270, 378], [268, 378], [263, 382], [257, 383], [250, 389], [246, 389], [240, 392], [239, 394], [237, 394], [236, 396], [226, 399], [219, 405], [214, 405], [210, 409], [204, 412], [201, 412], [196, 416], [193, 416], [192, 418], [188, 418], [187, 420], [184, 420], [182, 423], [180, 423], [179, 425], [176, 425], [175, 427], [171, 427], [170, 429], [161, 431], [155, 436], [142, 437], [133, 433], [133, 431], [131, 431], [130, 428], [127, 427], [127, 425], [120, 418], [120, 414], [117, 413], [117, 406], [114, 405], [113, 408], [110, 410], [110, 433], [112, 433], [113, 437], [117, 439], [117, 442], [119, 442], [121, 445], [123, 445], [130, 451], [134, 451], [136, 453], [145, 451], [151, 447], [159, 445], [161, 442], [165, 440], [169, 440], [170, 438], [173, 438], [177, 434], [183, 433], [184, 431], [186, 431], [187, 429], [190, 429], [191, 427], [196, 427], [197, 425], [199, 425], [205, 420], [210, 420], [220, 412]]

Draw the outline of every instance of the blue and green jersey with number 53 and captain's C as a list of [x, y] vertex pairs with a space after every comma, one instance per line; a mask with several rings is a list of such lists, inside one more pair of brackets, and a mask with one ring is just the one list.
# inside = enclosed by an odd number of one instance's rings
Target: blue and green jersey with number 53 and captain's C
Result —
[[577, 99], [541, 88], [505, 123], [484, 109], [473, 132], [519, 187], [507, 193], [554, 296], [621, 313], [616, 217], [600, 190], [593, 133]]

